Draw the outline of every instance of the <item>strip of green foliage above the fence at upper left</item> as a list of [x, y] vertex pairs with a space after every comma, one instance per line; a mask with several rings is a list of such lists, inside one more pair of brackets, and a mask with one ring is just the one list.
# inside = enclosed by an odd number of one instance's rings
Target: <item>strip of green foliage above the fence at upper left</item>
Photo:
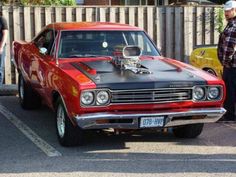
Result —
[[76, 5], [75, 0], [20, 0], [22, 5], [64, 5], [71, 6]]

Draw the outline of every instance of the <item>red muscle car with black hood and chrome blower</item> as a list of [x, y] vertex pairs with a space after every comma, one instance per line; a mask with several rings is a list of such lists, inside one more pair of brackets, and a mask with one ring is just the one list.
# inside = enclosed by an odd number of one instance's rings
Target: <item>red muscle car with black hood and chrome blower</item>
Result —
[[86, 130], [163, 129], [195, 138], [225, 113], [224, 82], [164, 58], [140, 28], [54, 23], [31, 42], [13, 42], [24, 109], [55, 111], [59, 142], [80, 144]]

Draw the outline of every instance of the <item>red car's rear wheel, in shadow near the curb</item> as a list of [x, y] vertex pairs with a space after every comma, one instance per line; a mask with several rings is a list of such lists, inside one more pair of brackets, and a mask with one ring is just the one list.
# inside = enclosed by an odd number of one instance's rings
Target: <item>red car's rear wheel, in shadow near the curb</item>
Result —
[[40, 96], [24, 81], [21, 74], [18, 80], [18, 94], [23, 109], [36, 109], [41, 106]]

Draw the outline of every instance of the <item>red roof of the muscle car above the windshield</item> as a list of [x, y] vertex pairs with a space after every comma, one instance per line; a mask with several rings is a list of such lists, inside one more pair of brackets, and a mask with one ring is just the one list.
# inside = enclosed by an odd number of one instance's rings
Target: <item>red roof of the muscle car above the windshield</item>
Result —
[[46, 28], [55, 30], [142, 30], [127, 24], [109, 22], [60, 22], [49, 24]]

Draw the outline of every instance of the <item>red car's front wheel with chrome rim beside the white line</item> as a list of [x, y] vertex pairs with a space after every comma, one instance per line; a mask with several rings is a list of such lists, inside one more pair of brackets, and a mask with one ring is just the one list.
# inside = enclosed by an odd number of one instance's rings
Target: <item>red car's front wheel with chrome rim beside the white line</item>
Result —
[[56, 103], [56, 130], [62, 146], [76, 146], [83, 144], [83, 130], [74, 126], [69, 119], [65, 105], [61, 98]]

